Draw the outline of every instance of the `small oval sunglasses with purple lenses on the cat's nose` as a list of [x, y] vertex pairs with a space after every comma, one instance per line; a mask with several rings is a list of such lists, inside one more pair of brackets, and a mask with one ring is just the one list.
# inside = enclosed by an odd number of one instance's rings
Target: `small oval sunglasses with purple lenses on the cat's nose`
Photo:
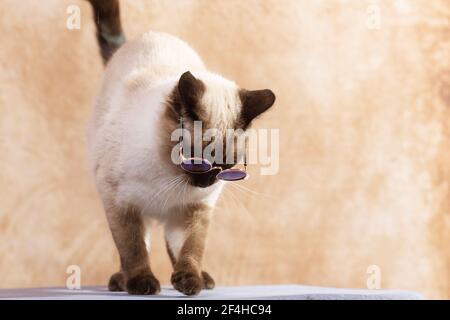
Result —
[[216, 178], [223, 181], [239, 181], [249, 177], [247, 173], [247, 155], [244, 155], [244, 170], [241, 169], [222, 169], [213, 166], [210, 161], [204, 158], [185, 158], [183, 155], [183, 118], [180, 118], [181, 137], [180, 137], [180, 167], [189, 173], [200, 174], [211, 170], [217, 171]]

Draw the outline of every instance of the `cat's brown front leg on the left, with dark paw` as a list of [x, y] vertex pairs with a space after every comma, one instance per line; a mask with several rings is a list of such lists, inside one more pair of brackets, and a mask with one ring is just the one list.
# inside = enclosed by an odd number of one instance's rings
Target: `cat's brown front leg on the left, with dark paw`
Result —
[[[134, 207], [106, 210], [109, 226], [120, 255], [121, 272], [114, 274], [117, 288], [129, 294], [157, 294], [161, 287], [150, 269], [145, 244], [145, 225], [141, 213]], [[120, 278], [123, 279], [117, 279]], [[112, 281], [113, 279], [111, 279]], [[117, 281], [116, 281], [117, 280]], [[110, 290], [113, 289], [110, 281]], [[122, 284], [120, 284], [122, 283]]]

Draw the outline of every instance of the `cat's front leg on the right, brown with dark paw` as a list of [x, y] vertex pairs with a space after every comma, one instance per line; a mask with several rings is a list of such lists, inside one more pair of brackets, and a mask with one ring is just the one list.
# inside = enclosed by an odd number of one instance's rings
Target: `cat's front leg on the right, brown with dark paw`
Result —
[[195, 295], [205, 287], [214, 286], [212, 278], [202, 271], [210, 212], [204, 204], [191, 204], [166, 224], [166, 240], [174, 265], [171, 283], [186, 295]]

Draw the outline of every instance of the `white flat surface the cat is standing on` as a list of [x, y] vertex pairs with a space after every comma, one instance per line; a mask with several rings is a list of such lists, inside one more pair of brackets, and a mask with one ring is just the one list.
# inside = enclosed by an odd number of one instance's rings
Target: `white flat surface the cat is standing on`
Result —
[[136, 299], [268, 299], [268, 300], [416, 300], [424, 297], [415, 292], [398, 290], [357, 290], [300, 285], [218, 287], [203, 290], [198, 296], [186, 297], [165, 286], [156, 296], [132, 296], [126, 292], [109, 292], [105, 287], [1, 289], [0, 299], [36, 300], [136, 300]]

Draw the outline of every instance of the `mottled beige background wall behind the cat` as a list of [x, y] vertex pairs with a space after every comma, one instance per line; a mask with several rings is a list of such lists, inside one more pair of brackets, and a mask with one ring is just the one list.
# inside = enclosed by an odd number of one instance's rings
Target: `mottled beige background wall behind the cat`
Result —
[[[258, 127], [281, 129], [280, 172], [225, 192], [205, 261], [218, 284], [364, 288], [378, 265], [383, 288], [450, 298], [448, 1], [125, 0], [122, 16], [128, 38], [178, 35], [278, 96]], [[103, 70], [91, 9], [1, 0], [0, 39], [0, 287], [64, 285], [70, 264], [106, 284], [118, 257], [84, 149]]]

